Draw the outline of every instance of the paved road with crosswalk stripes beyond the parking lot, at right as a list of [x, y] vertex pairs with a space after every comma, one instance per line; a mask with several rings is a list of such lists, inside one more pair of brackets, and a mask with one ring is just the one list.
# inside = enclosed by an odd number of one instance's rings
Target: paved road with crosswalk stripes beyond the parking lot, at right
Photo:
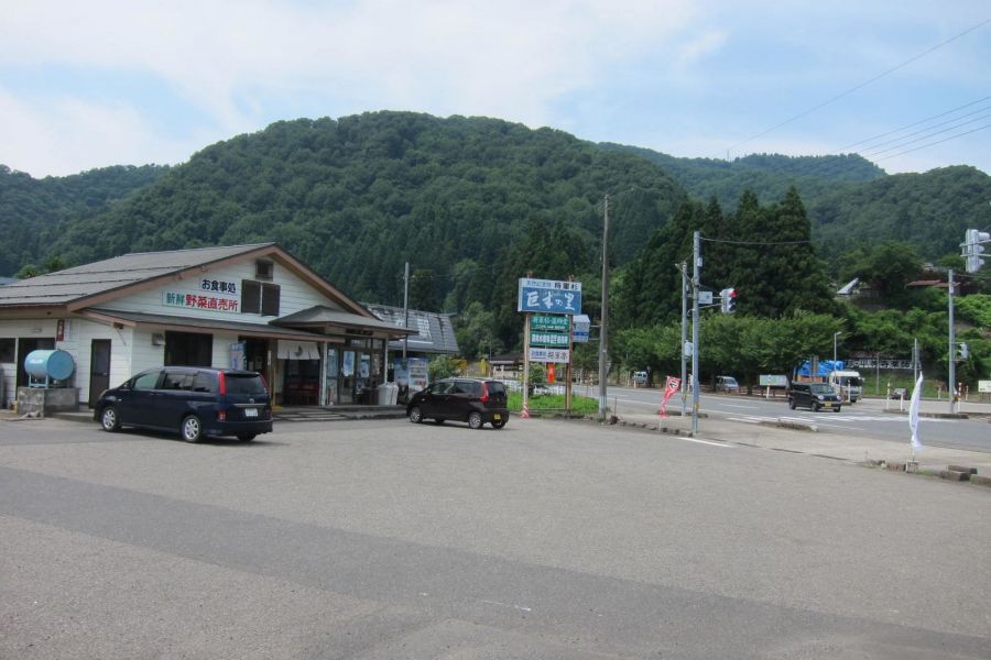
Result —
[[[609, 389], [610, 406], [614, 405], [620, 415], [625, 413], [651, 414], [658, 408], [661, 393], [656, 389], [633, 389], [616, 387]], [[840, 413], [812, 413], [788, 409], [784, 398], [763, 399], [761, 397], [703, 394], [701, 413], [743, 424], [761, 421], [797, 421], [815, 424], [821, 431], [840, 435], [870, 435], [884, 439], [906, 438], [907, 403], [903, 414], [899, 414], [900, 403], [883, 399], [863, 399], [853, 405], [845, 405]], [[688, 400], [690, 407], [691, 399]], [[949, 411], [946, 402], [924, 402], [923, 411], [943, 414]], [[971, 451], [991, 452], [991, 405], [969, 403], [965, 405], [976, 419], [924, 418], [921, 436], [926, 444], [949, 447]], [[680, 399], [668, 403], [668, 411], [680, 411]]]

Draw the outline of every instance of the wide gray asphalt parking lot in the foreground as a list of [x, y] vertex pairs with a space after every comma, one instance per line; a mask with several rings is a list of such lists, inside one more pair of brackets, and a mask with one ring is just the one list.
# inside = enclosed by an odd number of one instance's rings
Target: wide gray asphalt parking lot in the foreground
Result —
[[0, 422], [0, 658], [988, 658], [989, 510], [587, 422]]

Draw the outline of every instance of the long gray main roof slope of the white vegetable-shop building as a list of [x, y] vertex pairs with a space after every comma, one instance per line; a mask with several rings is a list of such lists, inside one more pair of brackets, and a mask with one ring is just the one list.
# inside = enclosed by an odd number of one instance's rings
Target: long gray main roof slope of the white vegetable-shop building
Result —
[[139, 252], [0, 286], [0, 305], [65, 305], [274, 243]]

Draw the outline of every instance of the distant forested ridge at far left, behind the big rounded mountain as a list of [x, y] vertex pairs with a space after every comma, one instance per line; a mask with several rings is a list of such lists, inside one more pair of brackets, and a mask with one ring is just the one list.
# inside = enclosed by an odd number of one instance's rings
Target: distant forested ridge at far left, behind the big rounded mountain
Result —
[[116, 166], [35, 179], [0, 165], [0, 275], [56, 256], [45, 244], [51, 229], [92, 217], [167, 170], [155, 165]]

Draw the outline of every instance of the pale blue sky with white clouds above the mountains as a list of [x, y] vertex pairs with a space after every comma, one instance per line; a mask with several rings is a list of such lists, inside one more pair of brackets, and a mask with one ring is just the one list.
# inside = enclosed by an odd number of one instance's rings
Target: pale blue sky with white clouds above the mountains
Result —
[[683, 157], [991, 173], [987, 0], [0, 0], [0, 164], [37, 178], [378, 110]]

